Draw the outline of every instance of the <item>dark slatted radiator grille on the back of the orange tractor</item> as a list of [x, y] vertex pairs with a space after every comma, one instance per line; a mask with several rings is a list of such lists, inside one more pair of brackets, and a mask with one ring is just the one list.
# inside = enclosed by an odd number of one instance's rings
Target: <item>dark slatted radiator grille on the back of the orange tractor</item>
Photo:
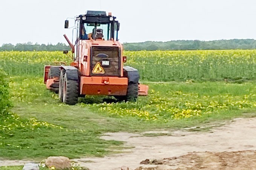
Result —
[[[102, 66], [102, 61], [109, 61], [109, 66]], [[104, 74], [93, 74], [93, 68], [97, 63], [101, 63], [104, 69]], [[90, 74], [95, 75], [106, 75], [106, 76], [120, 76], [120, 54], [118, 47], [98, 47], [94, 46], [91, 48], [91, 68]]]

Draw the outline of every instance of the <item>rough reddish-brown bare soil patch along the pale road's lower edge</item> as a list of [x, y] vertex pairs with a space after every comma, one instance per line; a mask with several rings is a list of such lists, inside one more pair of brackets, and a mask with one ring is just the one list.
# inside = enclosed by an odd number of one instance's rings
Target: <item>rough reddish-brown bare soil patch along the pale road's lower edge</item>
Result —
[[145, 167], [144, 165], [136, 168], [136, 170], [252, 170], [256, 169], [256, 151], [190, 152], [178, 158], [172, 157], [153, 160], [149, 164], [160, 165], [156, 167]]

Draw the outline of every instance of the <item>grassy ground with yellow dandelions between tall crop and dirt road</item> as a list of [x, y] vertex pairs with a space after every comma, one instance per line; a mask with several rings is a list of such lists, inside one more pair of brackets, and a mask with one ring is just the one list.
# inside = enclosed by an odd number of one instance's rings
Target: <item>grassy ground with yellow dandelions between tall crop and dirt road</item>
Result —
[[[101, 140], [105, 132], [201, 126], [242, 117], [244, 112], [254, 116], [256, 110], [255, 81], [148, 84], [149, 96], [139, 97], [134, 104], [102, 104], [101, 97], [88, 97], [69, 106], [46, 90], [41, 77], [11, 77], [12, 111], [20, 118], [8, 119], [17, 128], [0, 131], [0, 157], [41, 160], [54, 155], [104, 156], [122, 149], [120, 141]], [[145, 112], [156, 119], [147, 119]], [[21, 127], [21, 122], [28, 122], [27, 126]]]

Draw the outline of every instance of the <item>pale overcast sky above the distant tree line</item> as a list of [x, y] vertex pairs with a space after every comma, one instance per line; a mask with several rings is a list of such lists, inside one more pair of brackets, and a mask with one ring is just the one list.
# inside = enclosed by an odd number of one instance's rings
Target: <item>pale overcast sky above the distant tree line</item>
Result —
[[66, 43], [86, 10], [112, 12], [121, 42], [256, 39], [256, 0], [1, 0], [0, 45]]

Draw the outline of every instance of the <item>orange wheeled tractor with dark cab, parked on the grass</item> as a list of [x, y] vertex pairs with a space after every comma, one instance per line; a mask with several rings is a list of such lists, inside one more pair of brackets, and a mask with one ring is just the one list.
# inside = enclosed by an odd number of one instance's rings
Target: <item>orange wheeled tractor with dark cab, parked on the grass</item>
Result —
[[[76, 17], [75, 45], [64, 35], [74, 61], [70, 66], [44, 67], [47, 89], [70, 105], [85, 95], [114, 96], [120, 101], [136, 101], [138, 95], [147, 95], [148, 86], [139, 84], [138, 70], [123, 66], [126, 57], [118, 41], [119, 27], [116, 17], [104, 11], [87, 11]], [[69, 28], [68, 20], [65, 28]]]

